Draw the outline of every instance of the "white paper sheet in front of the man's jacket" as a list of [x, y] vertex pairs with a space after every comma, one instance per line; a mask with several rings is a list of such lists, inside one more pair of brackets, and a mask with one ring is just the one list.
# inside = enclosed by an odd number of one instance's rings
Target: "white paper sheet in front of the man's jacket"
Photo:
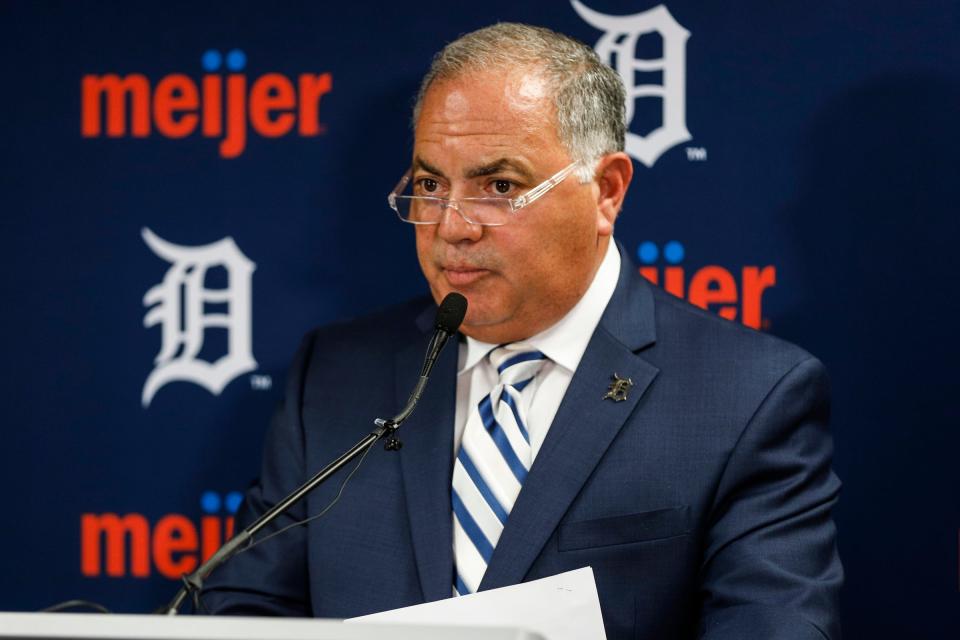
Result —
[[[452, 589], [452, 586], [451, 586]], [[519, 627], [547, 640], [606, 640], [593, 569], [374, 613], [347, 622]]]

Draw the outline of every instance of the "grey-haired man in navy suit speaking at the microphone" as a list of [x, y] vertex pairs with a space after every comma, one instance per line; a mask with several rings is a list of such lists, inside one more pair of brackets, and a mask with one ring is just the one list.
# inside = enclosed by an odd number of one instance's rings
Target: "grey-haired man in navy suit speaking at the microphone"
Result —
[[[823, 369], [621, 255], [623, 108], [589, 48], [544, 29], [437, 56], [390, 200], [433, 299], [469, 300], [464, 338], [403, 449], [215, 574], [208, 607], [350, 617], [591, 566], [610, 638], [839, 637]], [[307, 337], [245, 518], [402, 406], [432, 316], [417, 301]]]

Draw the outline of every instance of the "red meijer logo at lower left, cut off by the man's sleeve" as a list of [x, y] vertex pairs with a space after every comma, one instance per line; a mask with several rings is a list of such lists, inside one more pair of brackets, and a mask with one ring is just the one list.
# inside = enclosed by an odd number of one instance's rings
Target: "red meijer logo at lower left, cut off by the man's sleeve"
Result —
[[199, 522], [179, 513], [151, 525], [140, 513], [84, 513], [80, 516], [80, 571], [90, 578], [146, 578], [151, 568], [177, 579], [196, 569], [233, 536], [233, 514], [243, 496], [205, 492]]

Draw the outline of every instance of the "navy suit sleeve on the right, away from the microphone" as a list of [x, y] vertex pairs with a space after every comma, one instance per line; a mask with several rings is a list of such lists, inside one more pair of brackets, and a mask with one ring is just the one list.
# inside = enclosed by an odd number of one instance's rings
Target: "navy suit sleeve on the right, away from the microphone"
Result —
[[723, 472], [701, 574], [700, 637], [840, 638], [843, 568], [831, 510], [826, 373], [786, 373], [740, 435]]

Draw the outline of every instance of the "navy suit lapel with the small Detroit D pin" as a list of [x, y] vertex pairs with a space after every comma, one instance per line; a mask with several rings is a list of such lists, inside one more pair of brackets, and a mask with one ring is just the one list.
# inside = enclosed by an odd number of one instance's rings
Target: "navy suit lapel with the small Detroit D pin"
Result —
[[[632, 273], [633, 265], [622, 262], [617, 290], [570, 381], [481, 589], [523, 580], [659, 371], [635, 353], [655, 339], [652, 294]], [[603, 399], [614, 373], [633, 382], [622, 402]]]

